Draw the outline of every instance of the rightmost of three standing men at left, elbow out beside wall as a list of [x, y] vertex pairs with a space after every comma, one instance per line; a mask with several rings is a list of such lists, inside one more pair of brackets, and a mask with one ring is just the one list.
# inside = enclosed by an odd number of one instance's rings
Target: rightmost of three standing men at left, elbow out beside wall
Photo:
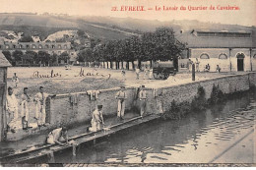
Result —
[[34, 96], [35, 101], [35, 119], [37, 120], [38, 126], [45, 125], [45, 101], [49, 94], [44, 92], [43, 86], [39, 87], [40, 92], [36, 93]]

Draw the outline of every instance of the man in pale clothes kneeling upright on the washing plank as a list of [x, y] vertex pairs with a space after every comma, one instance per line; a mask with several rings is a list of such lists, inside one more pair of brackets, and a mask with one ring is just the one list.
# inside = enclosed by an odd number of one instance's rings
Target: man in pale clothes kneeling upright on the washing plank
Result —
[[100, 131], [103, 128], [104, 120], [102, 114], [102, 105], [97, 105], [97, 109], [93, 112], [93, 118], [91, 121], [92, 127], [89, 128], [89, 131], [96, 132]]

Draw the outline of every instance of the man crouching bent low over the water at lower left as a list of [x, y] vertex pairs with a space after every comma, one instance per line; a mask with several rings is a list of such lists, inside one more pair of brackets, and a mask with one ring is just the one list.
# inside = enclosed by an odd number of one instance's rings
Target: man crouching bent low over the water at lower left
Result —
[[63, 128], [58, 128], [58, 129], [51, 131], [46, 138], [46, 143], [48, 143], [48, 144], [58, 143], [61, 145], [68, 143], [67, 128], [63, 127]]

